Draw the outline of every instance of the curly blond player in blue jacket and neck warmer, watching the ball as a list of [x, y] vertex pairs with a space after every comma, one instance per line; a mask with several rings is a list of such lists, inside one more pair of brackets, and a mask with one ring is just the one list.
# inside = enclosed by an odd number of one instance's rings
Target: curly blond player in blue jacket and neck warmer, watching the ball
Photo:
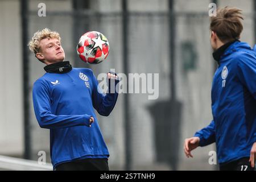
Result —
[[[69, 61], [63, 61], [59, 33], [45, 28], [28, 45], [46, 64], [47, 73], [35, 81], [32, 94], [40, 127], [50, 129], [53, 169], [108, 171], [109, 151], [94, 109], [108, 116], [118, 93], [102, 94], [91, 69], [72, 68]], [[109, 85], [118, 83], [115, 74], [108, 73], [107, 80]]]

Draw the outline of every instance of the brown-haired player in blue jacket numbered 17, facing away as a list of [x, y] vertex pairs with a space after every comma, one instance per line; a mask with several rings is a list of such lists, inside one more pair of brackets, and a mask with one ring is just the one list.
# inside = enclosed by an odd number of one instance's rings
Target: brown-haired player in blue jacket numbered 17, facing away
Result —
[[213, 121], [185, 139], [189, 158], [198, 146], [216, 142], [220, 170], [254, 170], [256, 157], [256, 48], [240, 42], [241, 10], [217, 10], [210, 44], [218, 68], [212, 84]]

